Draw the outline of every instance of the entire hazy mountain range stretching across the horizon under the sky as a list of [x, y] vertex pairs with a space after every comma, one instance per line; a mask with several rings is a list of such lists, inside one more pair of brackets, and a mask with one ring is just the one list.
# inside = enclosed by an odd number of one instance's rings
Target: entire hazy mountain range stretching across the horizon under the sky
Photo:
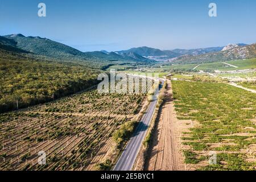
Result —
[[0, 48], [18, 52], [47, 56], [58, 60], [78, 60], [110, 65], [114, 61], [123, 63], [155, 63], [168, 61], [175, 64], [204, 63], [256, 57], [255, 44], [229, 44], [222, 47], [199, 49], [160, 50], [151, 47], [131, 48], [123, 51], [81, 52], [65, 44], [39, 36], [11, 34], [0, 36]]

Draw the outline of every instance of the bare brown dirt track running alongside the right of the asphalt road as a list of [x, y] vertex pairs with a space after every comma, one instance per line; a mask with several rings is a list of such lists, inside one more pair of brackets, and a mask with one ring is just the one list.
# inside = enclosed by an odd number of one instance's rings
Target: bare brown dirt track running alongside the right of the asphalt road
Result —
[[179, 143], [180, 133], [172, 102], [171, 81], [168, 81], [167, 99], [157, 122], [146, 169], [150, 171], [184, 170]]

